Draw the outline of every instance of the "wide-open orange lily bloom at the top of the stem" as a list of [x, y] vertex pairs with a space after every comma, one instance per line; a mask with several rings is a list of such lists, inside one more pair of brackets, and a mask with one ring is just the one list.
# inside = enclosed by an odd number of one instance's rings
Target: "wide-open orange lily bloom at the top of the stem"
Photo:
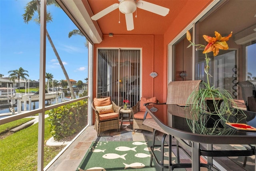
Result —
[[219, 53], [219, 49], [228, 50], [228, 44], [226, 41], [232, 36], [232, 32], [226, 36], [222, 37], [218, 32], [215, 32], [215, 38], [203, 35], [204, 40], [208, 42], [207, 46], [204, 48], [203, 54], [208, 52], [213, 52], [213, 56], [217, 56]]

